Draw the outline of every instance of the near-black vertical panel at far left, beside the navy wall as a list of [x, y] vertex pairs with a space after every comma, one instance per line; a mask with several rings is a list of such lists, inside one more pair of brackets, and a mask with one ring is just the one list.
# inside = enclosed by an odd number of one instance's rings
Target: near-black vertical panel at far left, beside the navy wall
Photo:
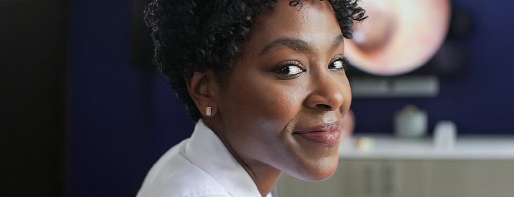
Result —
[[2, 1], [2, 196], [65, 195], [65, 1]]

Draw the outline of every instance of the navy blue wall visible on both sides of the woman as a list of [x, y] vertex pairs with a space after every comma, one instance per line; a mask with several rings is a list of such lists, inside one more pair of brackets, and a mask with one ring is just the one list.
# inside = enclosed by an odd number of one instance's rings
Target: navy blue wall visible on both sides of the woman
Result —
[[[514, 2], [457, 1], [475, 20], [470, 68], [426, 99], [354, 99], [357, 133], [390, 133], [416, 104], [462, 134], [514, 130]], [[192, 133], [185, 107], [156, 74], [131, 62], [131, 2], [72, 1], [69, 30], [69, 194], [134, 196], [152, 164]]]

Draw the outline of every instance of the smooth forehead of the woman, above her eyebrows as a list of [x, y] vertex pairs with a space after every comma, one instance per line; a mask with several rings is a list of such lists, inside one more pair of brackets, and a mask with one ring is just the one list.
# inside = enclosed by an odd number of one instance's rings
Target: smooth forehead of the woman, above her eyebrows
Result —
[[[276, 8], [256, 17], [250, 27], [245, 52], [260, 52], [268, 43], [281, 38], [293, 38], [312, 43], [316, 47], [328, 47], [341, 35], [334, 11], [327, 1], [302, 1], [296, 7], [289, 1], [277, 1]], [[255, 55], [255, 54], [252, 54]]]

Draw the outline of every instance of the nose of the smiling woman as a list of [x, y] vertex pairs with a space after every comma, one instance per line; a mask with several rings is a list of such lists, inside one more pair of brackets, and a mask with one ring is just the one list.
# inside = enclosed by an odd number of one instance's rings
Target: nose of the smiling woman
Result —
[[341, 90], [341, 80], [334, 80], [328, 73], [316, 75], [311, 79], [312, 91], [305, 100], [305, 105], [309, 108], [335, 111], [339, 108], [344, 96]]

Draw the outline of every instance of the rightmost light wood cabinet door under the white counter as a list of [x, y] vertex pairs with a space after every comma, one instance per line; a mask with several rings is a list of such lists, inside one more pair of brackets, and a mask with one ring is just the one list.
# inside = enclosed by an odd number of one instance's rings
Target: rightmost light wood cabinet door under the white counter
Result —
[[432, 196], [514, 196], [514, 161], [434, 161]]

